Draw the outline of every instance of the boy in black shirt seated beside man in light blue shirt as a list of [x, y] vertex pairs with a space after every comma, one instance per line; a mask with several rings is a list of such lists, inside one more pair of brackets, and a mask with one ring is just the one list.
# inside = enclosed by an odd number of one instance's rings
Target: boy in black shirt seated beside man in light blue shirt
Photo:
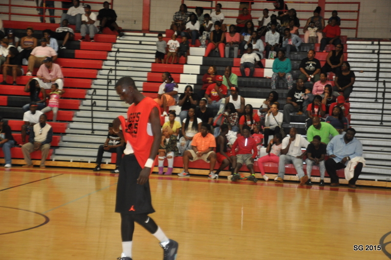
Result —
[[308, 180], [306, 184], [312, 186], [311, 183], [311, 173], [312, 166], [318, 165], [319, 172], [321, 175], [321, 181], [319, 182], [320, 187], [325, 186], [325, 155], [326, 155], [326, 144], [321, 143], [322, 138], [319, 135], [313, 137], [312, 142], [307, 147], [307, 158], [305, 159], [305, 164], [307, 165], [307, 176]]

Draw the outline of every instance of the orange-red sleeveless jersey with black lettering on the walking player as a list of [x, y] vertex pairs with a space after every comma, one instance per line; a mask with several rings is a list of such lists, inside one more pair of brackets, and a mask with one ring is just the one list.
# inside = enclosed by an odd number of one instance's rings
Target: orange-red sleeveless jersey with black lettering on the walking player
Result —
[[137, 162], [141, 167], [144, 167], [147, 162], [153, 143], [153, 136], [147, 133], [147, 124], [152, 111], [152, 108], [159, 106], [150, 97], [145, 97], [140, 103], [132, 104], [128, 108], [128, 119], [123, 116], [118, 118], [121, 121], [122, 132], [125, 140], [131, 145], [136, 156]]

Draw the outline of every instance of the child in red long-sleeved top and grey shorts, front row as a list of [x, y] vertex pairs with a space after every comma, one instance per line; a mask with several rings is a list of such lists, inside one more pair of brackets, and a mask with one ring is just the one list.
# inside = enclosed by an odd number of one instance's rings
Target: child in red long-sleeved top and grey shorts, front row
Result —
[[[238, 151], [236, 151], [238, 148]], [[250, 171], [250, 174], [255, 176], [254, 159], [258, 155], [257, 143], [250, 136], [250, 128], [243, 126], [242, 135], [236, 139], [232, 146], [232, 155], [236, 155], [236, 168], [234, 175], [239, 173], [239, 169], [245, 164]]]

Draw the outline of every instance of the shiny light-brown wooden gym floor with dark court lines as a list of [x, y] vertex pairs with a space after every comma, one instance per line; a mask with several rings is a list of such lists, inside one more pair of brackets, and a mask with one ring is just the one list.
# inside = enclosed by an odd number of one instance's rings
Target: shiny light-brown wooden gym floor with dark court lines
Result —
[[[115, 260], [116, 182], [108, 171], [0, 169], [0, 260]], [[178, 260], [391, 259], [389, 189], [156, 174], [150, 183], [150, 216], [179, 242]], [[137, 224], [132, 258], [162, 259]]]

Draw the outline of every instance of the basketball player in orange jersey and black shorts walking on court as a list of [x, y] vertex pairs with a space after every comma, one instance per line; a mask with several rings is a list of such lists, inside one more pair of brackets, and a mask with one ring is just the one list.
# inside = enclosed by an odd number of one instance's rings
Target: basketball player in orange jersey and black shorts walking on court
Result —
[[[160, 241], [163, 260], [175, 260], [178, 243], [167, 238], [148, 214], [154, 212], [151, 202], [149, 175], [161, 142], [160, 111], [152, 98], [145, 97], [130, 77], [121, 78], [115, 85], [120, 99], [130, 104], [128, 118], [119, 116], [113, 130], [126, 143], [125, 155], [117, 184], [115, 212], [121, 214], [122, 254], [118, 260], [131, 260], [134, 222], [137, 222]], [[122, 132], [119, 127], [121, 126]]]

